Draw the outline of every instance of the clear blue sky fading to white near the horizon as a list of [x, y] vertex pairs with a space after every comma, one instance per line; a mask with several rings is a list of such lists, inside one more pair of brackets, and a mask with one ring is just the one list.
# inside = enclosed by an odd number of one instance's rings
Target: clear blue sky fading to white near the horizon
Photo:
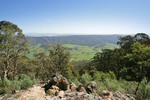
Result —
[[150, 0], [0, 0], [23, 33], [150, 34]]

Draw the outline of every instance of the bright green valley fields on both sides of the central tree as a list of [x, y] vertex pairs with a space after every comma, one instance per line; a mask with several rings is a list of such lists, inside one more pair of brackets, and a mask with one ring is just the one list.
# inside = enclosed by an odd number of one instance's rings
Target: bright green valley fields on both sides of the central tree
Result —
[[[117, 45], [111, 43], [103, 43], [95, 46], [82, 46], [74, 44], [64, 44], [63, 46], [69, 50], [71, 54], [71, 60], [74, 61], [90, 60], [94, 57], [94, 55], [97, 52], [101, 52], [102, 49], [118, 48]], [[41, 47], [41, 44], [37, 44], [35, 46], [30, 47], [30, 54], [28, 54], [27, 56], [29, 58], [33, 58], [34, 53], [40, 52], [48, 53], [48, 51], [44, 50], [44, 48]]]

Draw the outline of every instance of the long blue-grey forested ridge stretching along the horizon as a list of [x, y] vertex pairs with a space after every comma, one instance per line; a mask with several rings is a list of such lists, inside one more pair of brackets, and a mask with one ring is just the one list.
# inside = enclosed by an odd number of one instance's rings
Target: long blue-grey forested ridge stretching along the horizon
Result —
[[74, 44], [83, 46], [94, 46], [102, 43], [116, 44], [118, 37], [122, 35], [66, 35], [51, 34], [51, 36], [26, 36], [27, 40], [33, 45], [42, 44]]

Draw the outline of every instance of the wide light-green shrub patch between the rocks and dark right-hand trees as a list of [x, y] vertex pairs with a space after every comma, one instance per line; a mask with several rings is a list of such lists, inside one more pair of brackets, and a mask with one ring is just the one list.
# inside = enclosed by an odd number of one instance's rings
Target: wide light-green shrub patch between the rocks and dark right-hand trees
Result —
[[117, 80], [113, 72], [109, 73], [96, 72], [92, 80], [99, 85], [97, 91], [98, 93], [103, 90], [109, 90], [133, 94], [137, 86], [136, 82], [128, 82], [121, 79]]

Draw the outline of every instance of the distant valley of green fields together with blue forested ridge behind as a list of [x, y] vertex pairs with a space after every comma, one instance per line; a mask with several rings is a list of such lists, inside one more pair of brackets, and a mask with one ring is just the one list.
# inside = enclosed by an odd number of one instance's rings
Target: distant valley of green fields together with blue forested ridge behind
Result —
[[51, 37], [26, 37], [30, 47], [28, 57], [33, 58], [34, 53], [40, 53], [47, 45], [62, 44], [70, 54], [71, 60], [91, 60], [97, 52], [103, 49], [115, 49], [119, 46], [117, 41], [121, 35], [71, 35]]

